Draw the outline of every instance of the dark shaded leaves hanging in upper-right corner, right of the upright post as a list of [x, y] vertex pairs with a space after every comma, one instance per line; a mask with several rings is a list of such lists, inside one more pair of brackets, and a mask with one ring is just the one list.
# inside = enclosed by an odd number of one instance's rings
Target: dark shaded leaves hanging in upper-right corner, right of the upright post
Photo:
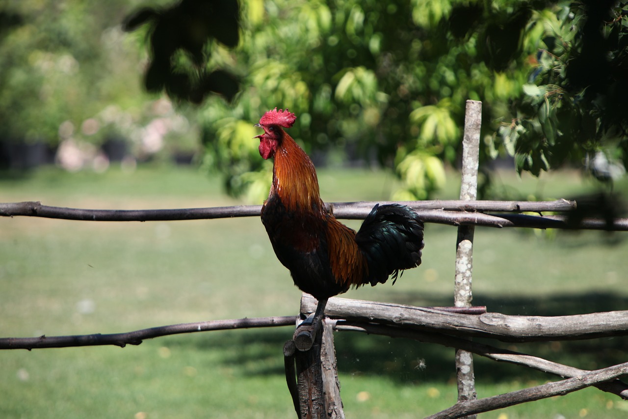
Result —
[[[628, 166], [628, 4], [575, 3], [535, 13], [534, 71], [499, 128], [517, 170], [585, 162], [602, 181]], [[492, 145], [492, 144], [491, 144]], [[495, 148], [490, 150], [495, 153]]]

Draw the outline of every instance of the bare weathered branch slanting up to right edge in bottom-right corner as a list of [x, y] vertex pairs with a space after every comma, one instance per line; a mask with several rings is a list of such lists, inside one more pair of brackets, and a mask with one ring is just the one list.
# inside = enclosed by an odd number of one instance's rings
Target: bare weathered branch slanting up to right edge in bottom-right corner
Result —
[[610, 381], [619, 376], [628, 374], [628, 362], [616, 366], [598, 369], [596, 371], [572, 377], [555, 383], [541, 384], [531, 388], [526, 388], [510, 393], [499, 394], [477, 400], [468, 400], [456, 403], [452, 407], [428, 416], [427, 419], [454, 419], [463, 416], [474, 415], [489, 410], [502, 409], [508, 406], [519, 405], [528, 401], [535, 401], [552, 396], [564, 396], [576, 390], [593, 386], [597, 383]]

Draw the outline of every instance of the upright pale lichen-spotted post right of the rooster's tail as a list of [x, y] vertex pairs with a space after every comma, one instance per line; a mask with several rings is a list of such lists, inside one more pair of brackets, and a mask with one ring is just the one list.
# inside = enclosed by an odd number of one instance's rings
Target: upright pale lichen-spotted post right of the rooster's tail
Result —
[[[467, 101], [465, 130], [462, 140], [462, 182], [460, 199], [473, 201], [477, 198], [477, 172], [480, 151], [480, 127], [482, 126], [482, 102]], [[456, 269], [454, 305], [470, 307], [473, 299], [471, 290], [473, 271], [474, 226], [458, 227], [456, 243]], [[473, 357], [470, 352], [456, 350], [456, 372], [458, 401], [477, 399]], [[467, 416], [475, 418], [475, 415]]]

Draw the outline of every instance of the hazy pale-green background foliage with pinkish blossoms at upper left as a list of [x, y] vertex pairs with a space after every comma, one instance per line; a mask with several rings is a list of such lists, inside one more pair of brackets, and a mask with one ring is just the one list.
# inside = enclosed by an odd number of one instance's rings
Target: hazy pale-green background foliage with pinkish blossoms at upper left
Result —
[[197, 148], [185, 109], [143, 89], [144, 34], [121, 28], [139, 4], [2, 3], [0, 166], [24, 169], [56, 155], [70, 170], [104, 170], [109, 159], [133, 164]]

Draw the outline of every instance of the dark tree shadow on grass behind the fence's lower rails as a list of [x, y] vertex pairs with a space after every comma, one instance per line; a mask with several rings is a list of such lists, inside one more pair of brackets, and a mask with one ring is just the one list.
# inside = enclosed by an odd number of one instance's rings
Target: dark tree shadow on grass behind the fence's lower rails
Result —
[[[412, 303], [416, 298], [406, 295]], [[445, 305], [444, 296], [431, 296], [425, 305]], [[510, 296], [476, 296], [476, 303], [489, 311], [512, 315], [555, 316], [596, 311], [626, 310], [628, 298], [612, 294], [577, 294], [546, 296], [542, 299]], [[421, 301], [426, 301], [425, 294]], [[242, 375], [283, 374], [282, 348], [291, 338], [292, 328], [239, 330], [199, 335], [179, 341], [196, 345], [200, 350], [217, 350], [220, 362]], [[496, 347], [517, 350], [582, 369], [598, 369], [627, 360], [628, 337], [598, 338], [574, 342], [541, 342], [507, 344], [496, 340], [477, 340]], [[383, 376], [394, 383], [411, 384], [428, 381], [448, 382], [455, 379], [451, 348], [423, 344], [414, 340], [364, 335], [355, 332], [335, 333], [338, 371], [357, 376]], [[512, 383], [553, 379], [548, 374], [526, 367], [475, 357], [476, 377], [481, 383]]]

